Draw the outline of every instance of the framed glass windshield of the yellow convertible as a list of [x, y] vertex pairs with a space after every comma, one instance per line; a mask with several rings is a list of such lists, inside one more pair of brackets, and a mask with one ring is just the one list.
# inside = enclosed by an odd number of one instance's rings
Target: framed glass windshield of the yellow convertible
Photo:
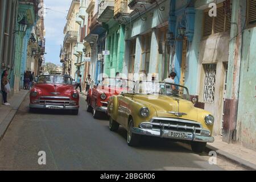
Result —
[[135, 94], [155, 94], [167, 95], [189, 100], [188, 89], [181, 85], [156, 82], [156, 81], [140, 81], [134, 88]]

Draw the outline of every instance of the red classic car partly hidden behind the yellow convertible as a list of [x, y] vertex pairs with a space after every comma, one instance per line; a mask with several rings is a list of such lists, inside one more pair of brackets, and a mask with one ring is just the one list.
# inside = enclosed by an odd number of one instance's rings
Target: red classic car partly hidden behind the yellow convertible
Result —
[[102, 113], [106, 114], [109, 97], [121, 92], [133, 90], [133, 81], [122, 78], [104, 78], [98, 84], [89, 89], [86, 102], [87, 111], [93, 113], [93, 118], [99, 118]]

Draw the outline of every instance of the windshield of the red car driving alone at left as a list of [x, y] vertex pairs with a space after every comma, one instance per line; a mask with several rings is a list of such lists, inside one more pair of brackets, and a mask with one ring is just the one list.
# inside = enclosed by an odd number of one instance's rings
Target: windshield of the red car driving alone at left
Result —
[[71, 78], [67, 77], [67, 76], [46, 75], [46, 76], [39, 76], [38, 84], [67, 84], [67, 85], [71, 85], [72, 81], [71, 81]]

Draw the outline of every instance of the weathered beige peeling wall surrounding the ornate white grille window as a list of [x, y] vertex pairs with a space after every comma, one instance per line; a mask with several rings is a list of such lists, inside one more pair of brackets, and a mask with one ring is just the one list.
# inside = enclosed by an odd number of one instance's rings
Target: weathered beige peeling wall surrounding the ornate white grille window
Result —
[[[204, 103], [204, 109], [210, 111], [215, 118], [213, 135], [221, 135], [221, 121], [223, 111], [225, 64], [229, 59], [229, 33], [221, 32], [203, 38], [199, 49], [199, 102]], [[204, 102], [204, 64], [216, 64], [216, 82], [214, 86], [214, 102]]]

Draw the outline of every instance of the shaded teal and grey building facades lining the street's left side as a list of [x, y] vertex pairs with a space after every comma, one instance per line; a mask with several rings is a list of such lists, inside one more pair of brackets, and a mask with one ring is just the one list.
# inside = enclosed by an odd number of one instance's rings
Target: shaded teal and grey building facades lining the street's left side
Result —
[[1, 73], [9, 70], [11, 94], [23, 88], [25, 71], [38, 75], [44, 59], [44, 20], [38, 15], [39, 4], [43, 0], [0, 2]]

